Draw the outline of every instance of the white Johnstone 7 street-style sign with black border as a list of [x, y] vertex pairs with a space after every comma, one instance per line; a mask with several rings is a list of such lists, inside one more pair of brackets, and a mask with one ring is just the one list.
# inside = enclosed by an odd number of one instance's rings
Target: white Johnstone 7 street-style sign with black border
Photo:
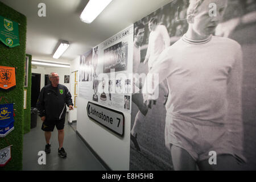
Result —
[[106, 127], [115, 134], [123, 137], [125, 116], [123, 113], [109, 109], [101, 105], [88, 102], [87, 105], [88, 117], [94, 121], [100, 123], [102, 126]]

